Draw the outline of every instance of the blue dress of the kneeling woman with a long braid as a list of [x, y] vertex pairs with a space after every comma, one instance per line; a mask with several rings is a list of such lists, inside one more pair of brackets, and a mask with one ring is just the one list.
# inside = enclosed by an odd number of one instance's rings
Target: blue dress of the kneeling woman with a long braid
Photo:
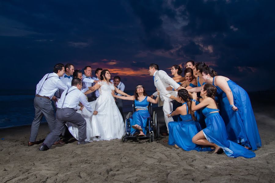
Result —
[[197, 151], [212, 151], [211, 148], [201, 148], [200, 145], [194, 144], [192, 138], [201, 131], [200, 124], [193, 120], [192, 115], [188, 114], [188, 106], [186, 105], [186, 115], [180, 115], [182, 121], [171, 121], [168, 123], [169, 128], [169, 145], [178, 145], [185, 151], [197, 150]]

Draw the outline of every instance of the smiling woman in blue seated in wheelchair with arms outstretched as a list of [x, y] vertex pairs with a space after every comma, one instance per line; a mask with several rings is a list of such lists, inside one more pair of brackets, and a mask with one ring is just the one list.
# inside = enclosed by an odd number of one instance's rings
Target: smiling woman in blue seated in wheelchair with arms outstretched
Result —
[[[138, 85], [134, 91], [134, 95], [130, 97], [126, 96], [117, 96], [114, 93], [113, 97], [123, 100], [133, 100], [135, 102], [135, 109], [133, 116], [130, 118], [130, 133], [134, 134], [135, 132], [140, 132], [138, 136], [146, 136], [146, 128], [147, 128], [147, 118], [150, 117], [150, 113], [148, 111], [149, 102], [153, 104], [157, 104], [159, 102], [159, 97], [156, 99], [152, 99], [146, 94], [145, 88], [142, 85]], [[158, 91], [158, 96], [160, 95]]]

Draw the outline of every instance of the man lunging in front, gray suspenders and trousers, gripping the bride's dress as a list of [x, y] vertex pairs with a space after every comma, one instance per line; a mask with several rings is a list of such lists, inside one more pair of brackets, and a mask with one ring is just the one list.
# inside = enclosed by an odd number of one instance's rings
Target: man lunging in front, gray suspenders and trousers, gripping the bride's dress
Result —
[[86, 96], [81, 91], [82, 82], [79, 78], [73, 78], [71, 81], [71, 88], [65, 90], [60, 98], [60, 101], [57, 105], [56, 112], [56, 122], [53, 131], [46, 137], [43, 144], [40, 146], [40, 151], [46, 151], [51, 148], [54, 142], [58, 139], [60, 132], [64, 128], [66, 122], [70, 122], [79, 127], [78, 131], [78, 142], [79, 144], [87, 144], [89, 142], [85, 142], [87, 138], [86, 135], [86, 120], [81, 116], [81, 114], [76, 113], [76, 110], [83, 108], [78, 104], [81, 102], [84, 107], [93, 115], [97, 115], [97, 111], [94, 111], [90, 106], [89, 102], [86, 99]]

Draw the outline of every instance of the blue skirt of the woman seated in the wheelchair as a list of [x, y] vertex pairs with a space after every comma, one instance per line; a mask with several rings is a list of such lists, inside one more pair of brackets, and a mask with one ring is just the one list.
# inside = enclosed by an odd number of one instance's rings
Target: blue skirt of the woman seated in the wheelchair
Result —
[[130, 120], [130, 133], [133, 135], [135, 132], [139, 132], [132, 128], [132, 125], [138, 124], [141, 126], [143, 133], [146, 135], [147, 129], [147, 118], [150, 117], [150, 113], [148, 110], [138, 110], [134, 112]]

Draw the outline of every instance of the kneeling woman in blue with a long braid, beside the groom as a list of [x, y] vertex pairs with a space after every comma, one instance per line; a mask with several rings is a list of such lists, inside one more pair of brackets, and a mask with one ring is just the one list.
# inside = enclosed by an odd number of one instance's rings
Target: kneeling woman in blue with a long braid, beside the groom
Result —
[[[168, 144], [175, 145], [177, 148], [180, 147], [185, 151], [211, 151], [211, 148], [202, 149], [200, 145], [196, 145], [192, 142], [192, 137], [196, 135], [201, 128], [199, 122], [196, 120], [195, 113], [191, 111], [191, 101], [188, 98], [188, 91], [180, 89], [176, 100], [182, 103], [182, 106], [167, 115], [168, 117], [172, 117], [180, 114], [180, 117], [182, 118], [182, 121], [171, 121], [168, 123]], [[171, 99], [175, 99], [174, 96], [171, 96]]]

